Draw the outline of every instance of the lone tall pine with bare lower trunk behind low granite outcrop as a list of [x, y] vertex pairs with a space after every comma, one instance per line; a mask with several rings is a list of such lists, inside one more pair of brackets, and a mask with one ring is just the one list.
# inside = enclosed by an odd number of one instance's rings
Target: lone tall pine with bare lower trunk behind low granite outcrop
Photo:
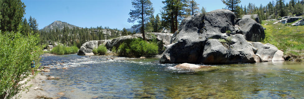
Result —
[[128, 22], [134, 23], [136, 20], [140, 23], [140, 32], [143, 34], [143, 39], [145, 40], [145, 23], [148, 21], [148, 18], [153, 15], [154, 8], [150, 0], [133, 0], [132, 6], [135, 10], [131, 10], [129, 13], [130, 18]]

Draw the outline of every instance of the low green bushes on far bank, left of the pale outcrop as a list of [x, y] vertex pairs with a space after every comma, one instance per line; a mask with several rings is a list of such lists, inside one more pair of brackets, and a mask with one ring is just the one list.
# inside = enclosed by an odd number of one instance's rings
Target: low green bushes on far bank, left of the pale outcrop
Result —
[[51, 54], [63, 55], [63, 54], [74, 54], [77, 53], [78, 47], [66, 47], [64, 45], [58, 45], [51, 50]]

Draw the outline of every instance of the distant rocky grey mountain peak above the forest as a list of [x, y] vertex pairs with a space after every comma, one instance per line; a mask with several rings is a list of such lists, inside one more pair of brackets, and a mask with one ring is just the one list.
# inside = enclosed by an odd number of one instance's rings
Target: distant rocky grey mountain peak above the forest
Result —
[[[59, 30], [63, 29], [64, 28], [64, 25], [69, 27], [69, 28], [76, 28], [77, 26], [75, 25], [72, 25], [72, 24], [68, 24], [66, 22], [62, 22], [62, 21], [54, 21], [52, 24], [48, 25], [48, 26], [45, 26], [44, 28], [42, 28], [41, 30], [42, 31], [49, 31], [49, 30], [53, 30], [53, 29], [56, 29], [58, 28]], [[79, 28], [79, 27], [78, 27]]]

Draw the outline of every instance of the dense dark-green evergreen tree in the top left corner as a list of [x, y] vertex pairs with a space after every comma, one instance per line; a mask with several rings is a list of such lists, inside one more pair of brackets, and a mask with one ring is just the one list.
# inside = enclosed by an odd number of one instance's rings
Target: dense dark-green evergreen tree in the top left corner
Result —
[[0, 0], [0, 30], [17, 31], [25, 14], [25, 7], [21, 0]]

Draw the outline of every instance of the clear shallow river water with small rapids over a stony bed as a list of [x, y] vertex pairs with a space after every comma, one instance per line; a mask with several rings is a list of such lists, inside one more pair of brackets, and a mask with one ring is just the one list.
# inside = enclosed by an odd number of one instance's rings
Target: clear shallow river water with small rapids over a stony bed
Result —
[[[42, 57], [51, 65], [44, 90], [63, 98], [302, 98], [304, 63], [259, 62], [207, 64], [197, 70], [160, 64], [159, 58], [106, 59], [76, 54]], [[58, 63], [56, 63], [58, 62]], [[65, 62], [60, 65], [59, 62]], [[206, 64], [199, 64], [206, 65]], [[56, 69], [68, 67], [68, 69]], [[51, 87], [56, 86], [56, 87]]]

